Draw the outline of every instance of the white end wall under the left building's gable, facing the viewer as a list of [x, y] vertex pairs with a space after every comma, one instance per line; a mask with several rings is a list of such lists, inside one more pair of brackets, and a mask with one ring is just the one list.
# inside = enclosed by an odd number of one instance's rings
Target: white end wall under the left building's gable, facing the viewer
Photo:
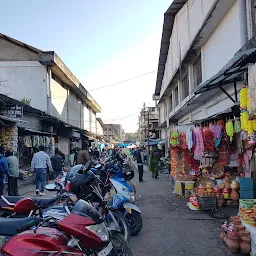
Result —
[[16, 100], [31, 99], [31, 106], [47, 111], [47, 70], [38, 61], [0, 61], [0, 93]]

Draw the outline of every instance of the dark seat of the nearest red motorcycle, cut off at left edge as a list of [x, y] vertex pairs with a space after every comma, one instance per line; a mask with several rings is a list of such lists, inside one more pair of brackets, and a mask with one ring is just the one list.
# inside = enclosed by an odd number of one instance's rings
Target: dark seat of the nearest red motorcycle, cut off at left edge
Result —
[[32, 221], [34, 217], [27, 218], [0, 218], [0, 235], [14, 236], [17, 229]]

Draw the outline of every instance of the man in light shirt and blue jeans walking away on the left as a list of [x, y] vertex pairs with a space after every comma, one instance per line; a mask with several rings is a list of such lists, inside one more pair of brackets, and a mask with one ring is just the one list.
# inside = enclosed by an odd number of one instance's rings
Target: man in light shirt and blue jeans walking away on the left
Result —
[[49, 155], [44, 152], [44, 147], [40, 147], [40, 151], [34, 154], [31, 162], [31, 171], [36, 172], [36, 194], [40, 196], [45, 195], [47, 167], [50, 172], [53, 171]]

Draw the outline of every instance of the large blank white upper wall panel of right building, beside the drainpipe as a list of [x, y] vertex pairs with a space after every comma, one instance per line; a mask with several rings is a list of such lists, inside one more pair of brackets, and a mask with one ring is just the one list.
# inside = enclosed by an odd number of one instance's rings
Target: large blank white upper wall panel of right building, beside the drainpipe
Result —
[[242, 47], [238, 11], [236, 1], [202, 47], [203, 80], [215, 75]]

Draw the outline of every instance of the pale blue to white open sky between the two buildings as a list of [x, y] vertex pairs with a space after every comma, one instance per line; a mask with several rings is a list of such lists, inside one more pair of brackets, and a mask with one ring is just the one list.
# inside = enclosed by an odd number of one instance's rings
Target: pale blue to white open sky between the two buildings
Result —
[[[105, 123], [138, 128], [153, 105], [164, 12], [172, 0], [8, 0], [0, 32], [54, 50], [102, 107]], [[96, 88], [148, 75], [104, 89]]]

